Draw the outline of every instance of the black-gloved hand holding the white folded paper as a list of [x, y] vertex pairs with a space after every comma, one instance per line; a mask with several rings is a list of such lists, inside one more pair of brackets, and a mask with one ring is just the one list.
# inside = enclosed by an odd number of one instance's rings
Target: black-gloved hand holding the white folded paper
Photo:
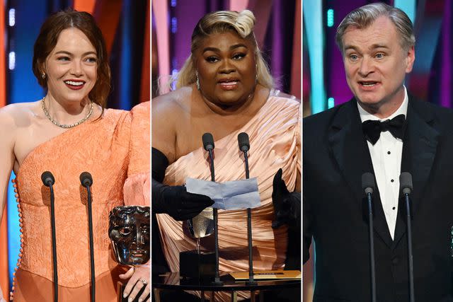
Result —
[[175, 220], [190, 219], [212, 206], [210, 197], [187, 192], [182, 185], [162, 185], [152, 178], [152, 210], [154, 213], [165, 213]]

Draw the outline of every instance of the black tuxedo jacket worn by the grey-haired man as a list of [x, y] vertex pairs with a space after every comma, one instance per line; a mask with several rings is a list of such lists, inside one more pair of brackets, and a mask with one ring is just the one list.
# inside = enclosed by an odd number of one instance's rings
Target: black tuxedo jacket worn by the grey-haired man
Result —
[[[406, 117], [401, 172], [413, 177], [415, 301], [453, 301], [453, 112], [409, 97]], [[313, 236], [314, 301], [371, 301], [361, 178], [373, 167], [357, 102], [306, 117], [303, 127], [303, 250], [306, 262]], [[403, 201], [392, 240], [378, 190], [373, 194], [377, 300], [408, 301]]]

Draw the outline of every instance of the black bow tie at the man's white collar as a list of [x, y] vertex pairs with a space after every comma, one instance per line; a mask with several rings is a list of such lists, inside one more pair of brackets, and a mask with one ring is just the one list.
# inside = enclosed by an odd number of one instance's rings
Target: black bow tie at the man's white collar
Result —
[[404, 115], [397, 115], [393, 119], [384, 122], [367, 120], [362, 122], [362, 129], [365, 138], [373, 145], [376, 144], [381, 136], [381, 132], [384, 131], [389, 131], [397, 139], [403, 139], [404, 131], [406, 130], [406, 117]]

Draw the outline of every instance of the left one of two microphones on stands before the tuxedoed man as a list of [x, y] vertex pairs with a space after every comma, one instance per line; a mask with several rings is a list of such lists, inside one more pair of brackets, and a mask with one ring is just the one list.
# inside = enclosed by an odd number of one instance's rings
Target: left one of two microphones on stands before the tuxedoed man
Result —
[[376, 185], [374, 182], [374, 175], [366, 172], [362, 174], [362, 189], [367, 195], [368, 203], [368, 237], [369, 237], [369, 267], [370, 267], [370, 281], [371, 281], [371, 300], [376, 302], [376, 267], [374, 264], [374, 235], [373, 235], [373, 205], [372, 194]]

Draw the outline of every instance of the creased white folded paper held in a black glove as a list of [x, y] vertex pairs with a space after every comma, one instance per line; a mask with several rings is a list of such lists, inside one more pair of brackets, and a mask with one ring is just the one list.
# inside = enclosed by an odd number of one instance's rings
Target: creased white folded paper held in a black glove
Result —
[[224, 210], [237, 210], [259, 207], [260, 193], [256, 178], [233, 180], [228, 182], [212, 182], [186, 178], [187, 192], [203, 194], [214, 200], [212, 207]]

